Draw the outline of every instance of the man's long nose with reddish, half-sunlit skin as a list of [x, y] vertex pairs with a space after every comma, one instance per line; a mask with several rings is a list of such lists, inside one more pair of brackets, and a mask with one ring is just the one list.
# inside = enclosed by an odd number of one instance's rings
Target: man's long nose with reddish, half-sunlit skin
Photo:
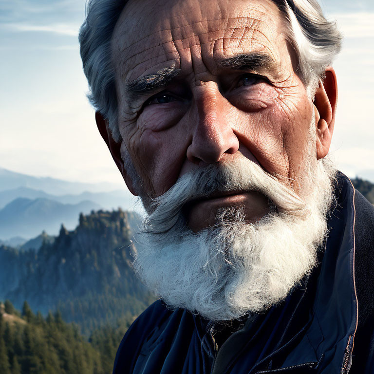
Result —
[[190, 123], [192, 142], [187, 148], [187, 159], [194, 164], [212, 164], [234, 154], [239, 139], [232, 128], [230, 103], [221, 95], [215, 83], [195, 87], [193, 115]]

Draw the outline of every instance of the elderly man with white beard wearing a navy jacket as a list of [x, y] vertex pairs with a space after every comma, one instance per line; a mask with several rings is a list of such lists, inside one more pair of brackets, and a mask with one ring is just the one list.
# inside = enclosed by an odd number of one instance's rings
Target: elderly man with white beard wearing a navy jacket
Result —
[[79, 39], [160, 295], [114, 373], [372, 373], [374, 212], [328, 156], [318, 3], [91, 0]]

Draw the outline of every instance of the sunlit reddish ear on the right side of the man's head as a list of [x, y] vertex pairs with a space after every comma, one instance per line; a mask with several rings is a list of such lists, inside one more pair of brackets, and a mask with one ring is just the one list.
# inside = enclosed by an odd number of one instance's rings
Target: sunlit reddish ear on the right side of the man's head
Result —
[[317, 160], [327, 155], [334, 131], [337, 110], [337, 75], [329, 66], [325, 78], [319, 81], [314, 98], [317, 131]]

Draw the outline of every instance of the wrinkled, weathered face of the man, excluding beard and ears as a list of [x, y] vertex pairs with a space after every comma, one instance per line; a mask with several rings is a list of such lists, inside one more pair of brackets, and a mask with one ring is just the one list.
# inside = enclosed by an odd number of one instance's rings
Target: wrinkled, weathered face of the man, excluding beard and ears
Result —
[[[147, 195], [242, 155], [298, 190], [305, 157], [316, 154], [313, 105], [274, 3], [131, 0], [112, 47], [121, 153], [130, 153]], [[219, 207], [235, 205], [252, 222], [268, 212], [262, 194], [232, 191], [191, 205], [188, 225], [198, 231]]]

